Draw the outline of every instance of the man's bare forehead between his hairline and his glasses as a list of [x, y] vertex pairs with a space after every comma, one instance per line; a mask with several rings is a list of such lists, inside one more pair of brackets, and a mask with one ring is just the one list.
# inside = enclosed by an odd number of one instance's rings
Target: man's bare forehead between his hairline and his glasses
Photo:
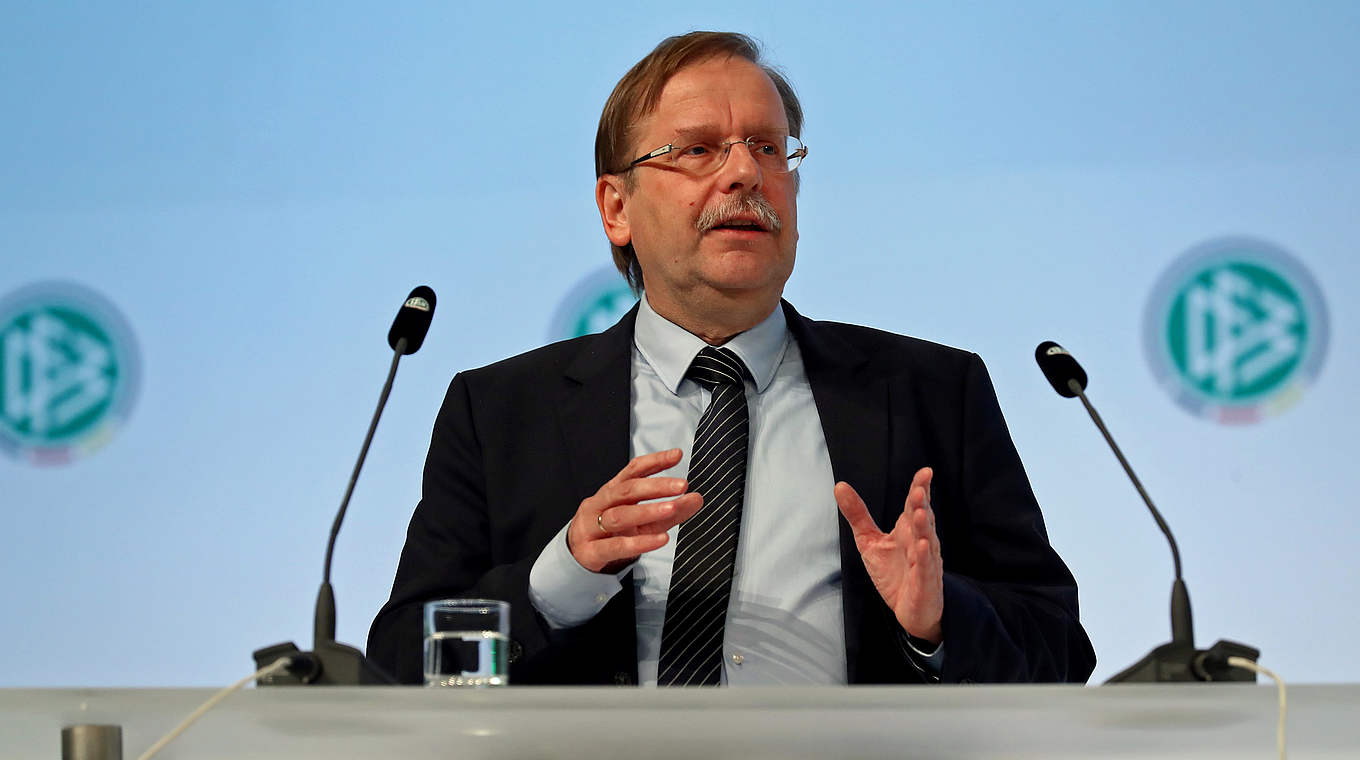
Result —
[[779, 91], [759, 65], [741, 57], [709, 58], [670, 77], [638, 133], [789, 129]]

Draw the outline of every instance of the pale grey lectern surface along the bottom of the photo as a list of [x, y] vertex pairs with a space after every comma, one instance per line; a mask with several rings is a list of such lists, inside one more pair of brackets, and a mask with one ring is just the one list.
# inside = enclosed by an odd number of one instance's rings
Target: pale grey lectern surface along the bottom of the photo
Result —
[[[136, 757], [212, 689], [0, 691], [4, 757], [118, 723]], [[1360, 685], [1289, 689], [1289, 756], [1360, 757]], [[233, 695], [159, 757], [592, 760], [1274, 757], [1268, 685], [789, 689], [272, 688]]]

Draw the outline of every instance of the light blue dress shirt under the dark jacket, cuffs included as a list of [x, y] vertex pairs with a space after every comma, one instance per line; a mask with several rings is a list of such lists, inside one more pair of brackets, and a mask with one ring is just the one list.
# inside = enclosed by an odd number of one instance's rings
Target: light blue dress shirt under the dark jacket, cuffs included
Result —
[[[638, 310], [632, 351], [631, 455], [681, 449], [661, 473], [685, 477], [690, 447], [710, 393], [684, 373], [706, 344], [651, 310]], [[751, 445], [732, 601], [724, 631], [722, 683], [730, 685], [845, 684], [839, 521], [821, 419], [798, 344], [777, 307], [725, 344], [741, 358]], [[581, 567], [566, 526], [534, 562], [529, 598], [555, 628], [594, 617], [632, 572], [638, 621], [638, 680], [657, 683], [661, 627], [679, 526], [670, 541], [616, 574]], [[923, 654], [923, 653], [922, 653]], [[938, 666], [938, 655], [928, 662]]]

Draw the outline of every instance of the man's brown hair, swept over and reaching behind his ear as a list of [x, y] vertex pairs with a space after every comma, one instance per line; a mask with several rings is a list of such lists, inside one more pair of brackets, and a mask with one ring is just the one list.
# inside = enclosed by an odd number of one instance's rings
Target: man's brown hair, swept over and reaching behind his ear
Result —
[[[778, 69], [760, 60], [760, 46], [745, 34], [732, 31], [691, 31], [668, 37], [645, 58], [623, 75], [613, 92], [604, 103], [600, 114], [600, 129], [596, 132], [596, 178], [604, 174], [623, 174], [627, 189], [632, 188], [632, 175], [627, 173], [630, 133], [642, 117], [656, 110], [661, 101], [661, 90], [680, 69], [710, 58], [737, 56], [760, 67], [774, 82], [783, 101], [783, 114], [789, 120], [789, 133], [802, 136], [802, 105], [793, 87]], [[632, 243], [609, 245], [613, 250], [613, 264], [628, 280], [635, 292], [642, 290], [642, 266]]]

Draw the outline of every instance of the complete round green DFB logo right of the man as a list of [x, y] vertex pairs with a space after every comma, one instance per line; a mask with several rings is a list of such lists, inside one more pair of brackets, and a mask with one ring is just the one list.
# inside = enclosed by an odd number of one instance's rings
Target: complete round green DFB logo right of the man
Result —
[[1327, 311], [1312, 276], [1281, 247], [1220, 238], [1190, 249], [1157, 280], [1144, 348], [1180, 407], [1254, 423], [1289, 408], [1318, 377]]

